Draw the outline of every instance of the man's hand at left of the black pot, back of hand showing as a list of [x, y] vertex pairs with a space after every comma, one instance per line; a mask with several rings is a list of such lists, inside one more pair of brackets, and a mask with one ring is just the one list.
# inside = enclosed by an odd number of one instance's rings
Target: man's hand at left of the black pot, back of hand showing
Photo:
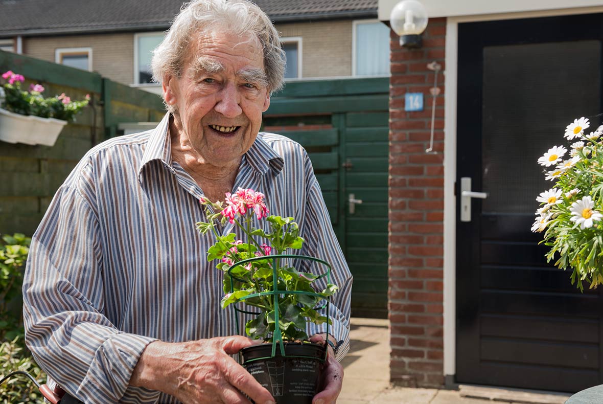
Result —
[[[151, 342], [130, 385], [159, 390], [183, 403], [274, 404], [274, 398], [229, 355], [253, 345], [243, 336], [189, 342]], [[244, 393], [244, 394], [243, 394]]]

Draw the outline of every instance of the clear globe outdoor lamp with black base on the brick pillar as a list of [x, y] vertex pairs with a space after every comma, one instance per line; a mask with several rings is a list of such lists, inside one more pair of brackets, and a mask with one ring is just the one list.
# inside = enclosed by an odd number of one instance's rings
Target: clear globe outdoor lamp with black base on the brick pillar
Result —
[[427, 11], [417, 0], [400, 1], [390, 14], [391, 29], [400, 36], [400, 46], [405, 48], [421, 47], [427, 20]]

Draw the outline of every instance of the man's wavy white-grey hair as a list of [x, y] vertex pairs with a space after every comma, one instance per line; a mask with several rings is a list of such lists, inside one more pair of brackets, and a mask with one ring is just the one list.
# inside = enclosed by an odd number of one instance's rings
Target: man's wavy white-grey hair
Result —
[[183, 4], [165, 38], [153, 51], [153, 79], [160, 83], [165, 75], [181, 77], [191, 39], [216, 27], [226, 27], [237, 36], [254, 34], [264, 50], [268, 91], [273, 93], [283, 87], [285, 51], [279, 33], [268, 15], [248, 0], [194, 0]]

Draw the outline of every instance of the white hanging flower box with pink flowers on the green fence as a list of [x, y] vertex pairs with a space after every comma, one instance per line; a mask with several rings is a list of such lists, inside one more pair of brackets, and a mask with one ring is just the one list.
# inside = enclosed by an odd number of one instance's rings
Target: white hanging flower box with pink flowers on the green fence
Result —
[[21, 89], [25, 77], [7, 71], [0, 83], [0, 140], [8, 143], [54, 146], [58, 134], [75, 114], [88, 104], [72, 101], [65, 95], [44, 98], [42, 85], [32, 84], [29, 91]]

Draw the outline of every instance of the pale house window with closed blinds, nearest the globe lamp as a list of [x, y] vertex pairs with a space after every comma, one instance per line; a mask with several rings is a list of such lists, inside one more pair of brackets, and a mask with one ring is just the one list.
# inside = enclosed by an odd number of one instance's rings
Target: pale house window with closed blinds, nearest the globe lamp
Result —
[[377, 20], [354, 21], [352, 75], [390, 74], [390, 28]]

